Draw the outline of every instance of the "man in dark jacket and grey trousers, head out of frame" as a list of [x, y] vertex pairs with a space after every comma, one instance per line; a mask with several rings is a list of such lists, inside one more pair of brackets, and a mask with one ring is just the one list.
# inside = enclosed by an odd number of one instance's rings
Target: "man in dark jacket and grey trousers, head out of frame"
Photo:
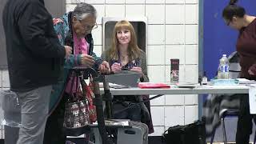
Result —
[[2, 18], [10, 90], [21, 102], [18, 144], [41, 144], [52, 85], [58, 82], [70, 46], [62, 46], [43, 0], [9, 0]]

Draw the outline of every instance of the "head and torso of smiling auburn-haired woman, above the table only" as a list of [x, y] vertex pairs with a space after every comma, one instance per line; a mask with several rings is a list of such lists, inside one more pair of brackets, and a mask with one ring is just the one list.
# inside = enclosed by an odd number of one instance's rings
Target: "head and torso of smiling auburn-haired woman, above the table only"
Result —
[[130, 22], [122, 20], [116, 23], [111, 47], [106, 50], [106, 54], [102, 54], [102, 58], [110, 62], [112, 72], [122, 69], [136, 71], [142, 74], [141, 82], [148, 82], [146, 54], [138, 47], [134, 27]]

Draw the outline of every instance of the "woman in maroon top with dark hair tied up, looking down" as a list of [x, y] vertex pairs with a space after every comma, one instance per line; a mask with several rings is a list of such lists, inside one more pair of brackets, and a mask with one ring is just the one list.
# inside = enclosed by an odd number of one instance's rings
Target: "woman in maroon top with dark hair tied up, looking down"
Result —
[[[256, 80], [256, 18], [246, 14], [246, 10], [236, 3], [237, 0], [231, 0], [222, 11], [222, 17], [227, 26], [239, 31], [236, 50], [240, 56], [240, 78]], [[252, 119], [255, 123], [255, 114], [250, 114], [248, 94], [243, 94], [238, 115], [237, 144], [249, 143]]]

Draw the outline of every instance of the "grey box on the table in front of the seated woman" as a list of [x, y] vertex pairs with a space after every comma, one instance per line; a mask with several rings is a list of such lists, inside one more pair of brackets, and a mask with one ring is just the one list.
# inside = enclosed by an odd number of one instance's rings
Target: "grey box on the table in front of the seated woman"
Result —
[[122, 70], [116, 74], [106, 75], [106, 82], [115, 83], [122, 86], [138, 87], [139, 78], [141, 74], [130, 71]]

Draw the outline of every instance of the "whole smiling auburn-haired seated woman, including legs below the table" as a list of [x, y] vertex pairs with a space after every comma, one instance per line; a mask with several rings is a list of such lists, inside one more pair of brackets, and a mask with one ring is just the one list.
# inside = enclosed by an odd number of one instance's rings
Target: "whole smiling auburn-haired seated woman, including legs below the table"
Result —
[[[149, 82], [146, 70], [146, 54], [138, 47], [134, 27], [126, 20], [119, 21], [115, 24], [111, 47], [102, 53], [102, 59], [110, 63], [110, 68], [113, 73], [118, 73], [121, 70], [131, 70], [141, 74], [140, 82]], [[146, 98], [148, 98], [148, 96], [146, 96]], [[141, 100], [142, 96], [116, 96], [113, 98], [113, 110], [122, 110], [126, 106], [132, 106], [134, 102]], [[147, 109], [145, 104], [148, 104]], [[141, 106], [132, 106], [113, 116], [119, 119], [145, 122], [149, 126], [150, 132], [152, 132], [154, 130], [152, 123], [150, 123], [151, 118], [148, 117], [147, 120], [143, 118], [145, 110], [147, 114], [150, 114], [150, 104], [145, 104], [142, 103]]]

